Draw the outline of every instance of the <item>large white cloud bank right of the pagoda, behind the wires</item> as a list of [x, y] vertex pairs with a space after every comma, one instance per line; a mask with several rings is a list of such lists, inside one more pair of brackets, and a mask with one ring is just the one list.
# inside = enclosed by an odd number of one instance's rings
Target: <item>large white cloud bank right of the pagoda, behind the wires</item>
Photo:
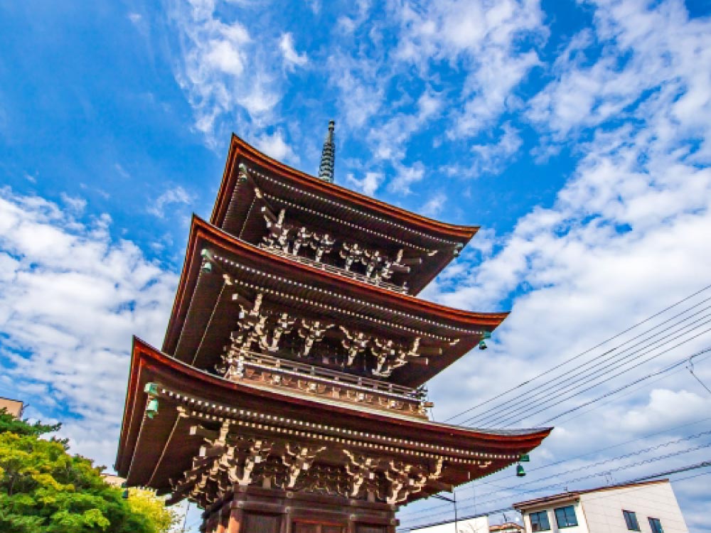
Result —
[[[509, 387], [516, 387], [512, 397], [529, 388], [535, 391], [535, 384], [517, 385], [711, 282], [707, 269], [711, 248], [705, 245], [711, 235], [707, 145], [711, 125], [704, 118], [711, 109], [711, 21], [688, 20], [684, 5], [676, 1], [653, 5], [600, 2], [595, 21], [593, 34], [576, 36], [562, 51], [552, 70], [555, 80], [528, 104], [528, 116], [540, 131], [580, 155], [555, 203], [521, 217], [510, 235], [496, 239], [476, 268], [476, 261], [465, 256], [466, 267], [456, 264], [451, 275], [441, 276], [439, 285], [430, 289], [429, 296], [455, 307], [493, 310], [509, 298], [513, 307], [489, 350], [472, 352], [431, 382], [432, 396], [439, 400], [438, 419]], [[584, 57], [590, 46], [602, 46], [604, 53], [591, 61]], [[594, 50], [589, 55], [593, 54]], [[697, 296], [688, 305], [707, 296]], [[552, 392], [567, 378], [548, 372], [538, 382], [539, 401], [547, 397], [565, 402], [541, 414], [523, 416], [517, 425], [541, 424], [565, 409], [688, 357], [711, 342], [711, 333], [703, 333], [708, 327], [698, 323], [693, 334], [700, 336], [692, 340], [688, 333], [680, 340], [690, 341], [675, 348], [663, 334], [671, 333], [668, 326], [660, 325], [653, 331], [662, 333], [660, 338], [666, 343], [656, 352], [656, 360], [581, 397], [565, 399]], [[635, 333], [594, 350], [567, 367], [568, 374]], [[695, 370], [704, 382], [711, 382], [707, 360]], [[532, 402], [525, 407], [533, 411]], [[566, 461], [541, 470], [550, 474], [693, 434], [707, 428], [707, 421], [691, 423], [707, 416], [710, 409], [711, 397], [680, 367], [678, 372], [665, 373], [656, 381], [555, 419], [552, 423], [557, 429], [534, 453], [532, 466], [540, 461]], [[500, 417], [498, 424], [501, 421], [506, 419]], [[496, 425], [496, 417], [488, 423]], [[628, 439], [631, 442], [624, 443]], [[571, 459], [605, 446], [616, 448]], [[680, 444], [668, 451], [683, 448]], [[637, 460], [660, 454], [651, 452]], [[703, 451], [695, 451], [638, 465], [615, 473], [614, 480], [701, 461], [704, 456]], [[611, 465], [631, 462], [612, 461]], [[480, 483], [477, 500], [481, 502], [483, 492], [495, 490], [487, 483], [513, 485], [506, 483], [508, 475]], [[540, 475], [530, 474], [526, 481]], [[557, 480], [565, 483], [565, 479]], [[598, 482], [602, 485], [606, 480], [584, 483]], [[680, 492], [685, 495], [680, 498], [683, 510], [705, 505], [703, 491]], [[514, 490], [504, 492], [503, 497], [501, 505], [525, 499]], [[705, 527], [693, 520], [692, 529]]]

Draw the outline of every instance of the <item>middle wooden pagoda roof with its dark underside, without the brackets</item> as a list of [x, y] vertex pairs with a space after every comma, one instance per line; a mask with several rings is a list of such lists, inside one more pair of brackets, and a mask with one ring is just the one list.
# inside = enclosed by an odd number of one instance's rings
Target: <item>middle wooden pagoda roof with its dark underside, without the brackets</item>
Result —
[[[203, 250], [215, 265], [210, 273], [201, 268]], [[239, 306], [232, 294], [241, 287], [262, 290], [274, 305], [289, 306], [300, 316], [317, 313], [365, 330], [421, 337], [422, 343], [439, 347], [442, 354], [429, 357], [428, 365], [405, 365], [393, 372], [389, 381], [407, 387], [437, 375], [508, 316], [461, 311], [331, 274], [271, 254], [193, 217], [163, 351], [213, 370], [235, 329]]]

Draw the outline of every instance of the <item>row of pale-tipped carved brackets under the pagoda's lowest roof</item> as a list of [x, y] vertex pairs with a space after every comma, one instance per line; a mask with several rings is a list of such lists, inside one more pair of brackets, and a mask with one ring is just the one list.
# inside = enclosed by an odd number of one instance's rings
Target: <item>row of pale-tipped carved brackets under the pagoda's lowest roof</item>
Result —
[[328, 464], [319, 458], [328, 448], [311, 443], [272, 440], [250, 434], [230, 434], [230, 421], [219, 431], [193, 426], [191, 434], [205, 437], [200, 455], [193, 458], [193, 468], [173, 485], [171, 500], [187, 495], [203, 506], [223, 497], [232, 485], [258, 485], [283, 490], [320, 492], [343, 497], [400, 504], [423, 490], [444, 485], [444, 458], [400, 461], [379, 454], [358, 453], [341, 448], [343, 459]]

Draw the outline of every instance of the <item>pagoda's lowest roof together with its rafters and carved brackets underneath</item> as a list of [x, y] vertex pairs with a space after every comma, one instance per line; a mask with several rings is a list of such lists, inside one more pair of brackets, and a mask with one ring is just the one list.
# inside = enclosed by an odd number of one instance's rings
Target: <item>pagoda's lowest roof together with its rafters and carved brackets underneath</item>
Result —
[[[220, 497], [240, 479], [249, 478], [244, 470], [249, 464], [243, 461], [249, 446], [239, 443], [237, 455], [218, 446], [224, 442], [224, 446], [234, 447], [240, 438], [262, 442], [260, 450], [269, 448], [264, 466], [269, 463], [272, 470], [257, 468], [261, 460], [255, 460], [252, 467], [255, 475], [259, 474], [254, 478], [257, 485], [279, 487], [286, 483], [299, 490], [326, 492], [331, 490], [329, 486], [336, 486], [338, 494], [345, 492], [344, 497], [357, 490], [365, 499], [401, 503], [438, 492], [442, 483], [457, 485], [514, 463], [550, 431], [467, 430], [249, 390], [183, 365], [139, 341], [134, 348], [129, 387], [128, 418], [122, 427], [117, 470], [129, 475], [129, 483], [138, 484], [149, 481], [144, 476], [153, 471], [150, 485], [154, 488], [169, 490], [172, 479], [178, 490], [176, 497], [191, 497], [204, 504]], [[146, 416], [146, 409], [154, 410], [151, 417]], [[161, 445], [156, 448], [156, 443]], [[284, 448], [288, 443], [291, 451]], [[291, 458], [282, 458], [284, 453]], [[218, 456], [222, 463], [210, 459]], [[181, 461], [182, 457], [188, 463]], [[225, 478], [229, 469], [223, 473], [224, 469], [218, 467], [235, 457], [242, 463], [232, 471], [232, 478]], [[291, 470], [284, 469], [285, 461], [292, 461], [289, 464], [293, 466], [299, 457], [311, 461], [309, 468], [319, 475], [299, 478], [309, 470], [299, 467], [303, 471], [289, 481]], [[133, 464], [136, 458], [140, 464]], [[146, 461], [151, 468], [141, 466]], [[277, 468], [275, 461], [281, 466]], [[368, 485], [369, 474], [365, 479], [347, 472], [363, 470], [368, 464], [373, 466], [378, 487]], [[291, 471], [291, 475], [296, 473]], [[437, 475], [432, 477], [432, 473]], [[301, 485], [301, 480], [308, 481], [308, 487]], [[360, 485], [356, 488], [353, 483]], [[408, 487], [417, 490], [401, 492]]]

